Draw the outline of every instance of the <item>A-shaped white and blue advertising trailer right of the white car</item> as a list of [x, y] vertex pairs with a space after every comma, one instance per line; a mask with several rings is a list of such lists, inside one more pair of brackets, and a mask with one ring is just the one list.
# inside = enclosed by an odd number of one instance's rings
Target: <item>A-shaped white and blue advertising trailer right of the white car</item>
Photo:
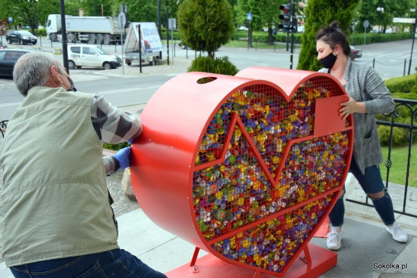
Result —
[[[141, 34], [140, 55], [139, 25]], [[155, 65], [162, 50], [162, 42], [155, 22], [130, 22], [126, 33], [126, 40], [123, 43], [123, 52], [125, 53], [125, 62], [127, 65], [139, 63], [139, 56], [142, 63], [149, 62], [149, 65]]]

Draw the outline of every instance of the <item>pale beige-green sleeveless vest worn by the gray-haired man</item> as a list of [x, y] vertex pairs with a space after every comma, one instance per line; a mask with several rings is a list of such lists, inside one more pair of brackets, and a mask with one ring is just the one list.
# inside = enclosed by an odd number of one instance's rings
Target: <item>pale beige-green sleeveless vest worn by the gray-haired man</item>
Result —
[[91, 102], [38, 86], [12, 115], [0, 148], [7, 267], [118, 248]]

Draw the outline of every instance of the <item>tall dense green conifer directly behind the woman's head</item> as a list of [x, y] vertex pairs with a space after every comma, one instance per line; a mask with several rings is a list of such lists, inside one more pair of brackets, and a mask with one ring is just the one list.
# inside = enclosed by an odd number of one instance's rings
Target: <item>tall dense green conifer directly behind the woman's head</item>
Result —
[[348, 36], [353, 12], [359, 1], [328, 0], [326, 5], [323, 5], [321, 0], [308, 1], [305, 8], [305, 29], [301, 36], [302, 48], [297, 69], [317, 71], [323, 67], [317, 60], [316, 32], [324, 25], [337, 20], [341, 23], [341, 29]]

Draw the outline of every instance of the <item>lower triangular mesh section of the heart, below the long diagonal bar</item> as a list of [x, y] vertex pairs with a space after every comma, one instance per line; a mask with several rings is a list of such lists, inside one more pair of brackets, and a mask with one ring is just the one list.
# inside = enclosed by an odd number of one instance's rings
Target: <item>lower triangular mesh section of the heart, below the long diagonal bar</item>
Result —
[[281, 272], [327, 210], [332, 195], [211, 245], [219, 254]]

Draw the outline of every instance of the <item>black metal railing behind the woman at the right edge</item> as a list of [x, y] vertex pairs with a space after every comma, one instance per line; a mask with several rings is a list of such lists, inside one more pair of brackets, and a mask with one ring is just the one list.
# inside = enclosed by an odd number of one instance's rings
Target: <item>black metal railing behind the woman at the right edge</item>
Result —
[[[417, 116], [417, 101], [416, 100], [407, 100], [407, 99], [394, 99], [395, 102], [395, 109], [392, 113], [384, 114], [383, 116], [385, 119], [379, 119], [376, 121], [378, 126], [388, 126], [390, 127], [390, 135], [389, 135], [389, 148], [388, 148], [388, 156], [385, 162], [385, 167], [387, 168], [387, 175], [385, 180], [385, 186], [388, 188], [390, 183], [390, 169], [393, 166], [391, 161], [391, 153], [393, 150], [394, 145], [394, 128], [401, 128], [406, 130], [405, 134], [408, 135], [408, 155], [407, 155], [407, 167], [405, 169], [405, 184], [404, 184], [404, 195], [403, 195], [403, 204], [402, 209], [400, 211], [394, 210], [394, 212], [398, 214], [404, 214], [412, 217], [417, 218], [417, 214], [410, 214], [406, 212], [407, 208], [407, 192], [409, 190], [409, 178], [410, 178], [410, 167], [412, 165], [412, 161], [417, 163], [417, 155], [412, 156], [412, 147], [413, 142], [417, 140], [414, 139], [414, 130], [417, 129], [417, 124], [415, 122]], [[410, 121], [403, 123], [399, 122], [398, 119], [401, 117], [401, 113], [407, 115], [411, 115]], [[408, 117], [407, 117], [408, 118]], [[404, 118], [403, 118], [404, 119]], [[416, 186], [416, 185], [413, 185]], [[347, 201], [366, 205], [372, 207], [372, 204], [369, 202], [369, 198], [366, 198], [365, 202], [346, 199]]]

